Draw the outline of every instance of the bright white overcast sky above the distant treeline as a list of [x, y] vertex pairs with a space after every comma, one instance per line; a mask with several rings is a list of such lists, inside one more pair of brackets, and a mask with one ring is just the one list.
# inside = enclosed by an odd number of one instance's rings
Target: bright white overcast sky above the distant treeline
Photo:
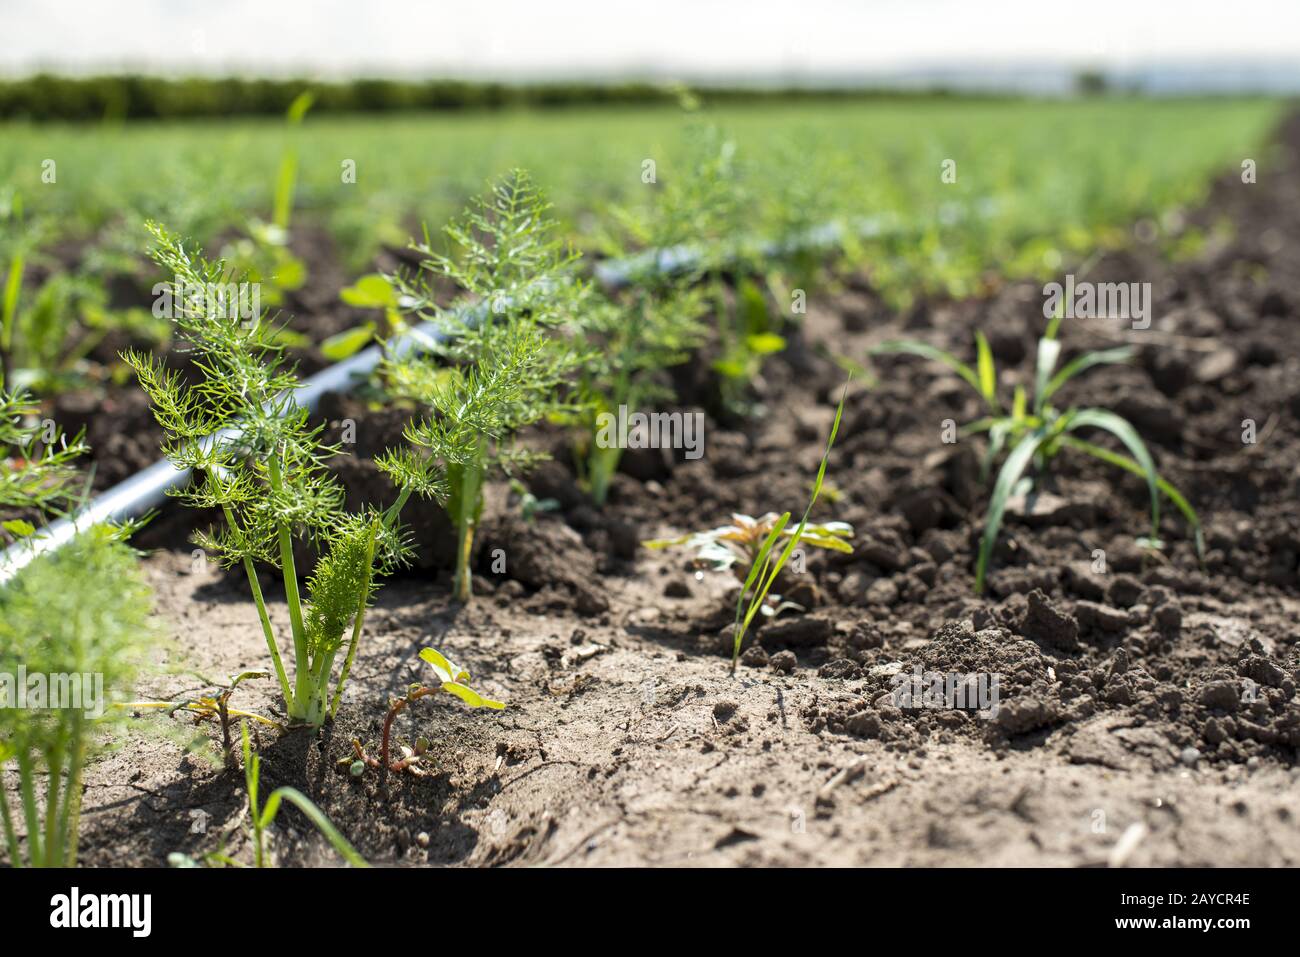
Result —
[[1300, 64], [1300, 0], [0, 0], [0, 72], [871, 74]]

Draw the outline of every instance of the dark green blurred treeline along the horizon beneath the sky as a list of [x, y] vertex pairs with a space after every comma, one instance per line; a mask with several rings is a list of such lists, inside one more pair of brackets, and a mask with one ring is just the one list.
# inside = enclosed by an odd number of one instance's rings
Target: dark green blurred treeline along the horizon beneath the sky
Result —
[[[684, 95], [680, 87], [645, 82], [623, 83], [478, 83], [456, 79], [399, 81], [161, 77], [56, 77], [39, 74], [0, 81], [0, 118], [35, 121], [170, 120], [182, 117], [274, 116], [283, 113], [300, 92], [315, 94], [313, 113], [385, 113], [399, 111], [546, 109], [602, 104], [671, 104]], [[710, 103], [759, 99], [848, 99], [949, 95], [867, 91], [858, 88], [748, 88], [705, 87]]]

